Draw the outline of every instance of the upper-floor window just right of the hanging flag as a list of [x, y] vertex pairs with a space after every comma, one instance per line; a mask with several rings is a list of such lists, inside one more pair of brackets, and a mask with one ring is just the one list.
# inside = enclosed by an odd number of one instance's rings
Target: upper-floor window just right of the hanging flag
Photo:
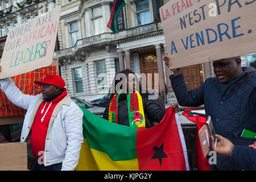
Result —
[[[136, 5], [136, 14], [141, 22], [141, 25], [151, 23], [150, 19], [150, 9], [148, 0], [139, 1], [135, 3]], [[137, 25], [139, 26], [139, 22], [137, 20]]]

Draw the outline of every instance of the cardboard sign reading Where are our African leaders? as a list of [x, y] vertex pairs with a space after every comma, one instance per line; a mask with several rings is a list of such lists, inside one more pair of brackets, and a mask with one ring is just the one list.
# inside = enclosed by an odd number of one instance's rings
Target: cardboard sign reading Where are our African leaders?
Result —
[[11, 28], [1, 59], [0, 78], [12, 77], [52, 64], [60, 6]]

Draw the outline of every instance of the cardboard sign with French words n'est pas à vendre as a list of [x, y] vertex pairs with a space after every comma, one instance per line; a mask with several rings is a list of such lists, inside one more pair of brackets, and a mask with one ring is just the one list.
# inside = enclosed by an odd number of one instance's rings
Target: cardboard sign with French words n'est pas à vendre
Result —
[[256, 52], [255, 0], [171, 0], [160, 8], [169, 68]]

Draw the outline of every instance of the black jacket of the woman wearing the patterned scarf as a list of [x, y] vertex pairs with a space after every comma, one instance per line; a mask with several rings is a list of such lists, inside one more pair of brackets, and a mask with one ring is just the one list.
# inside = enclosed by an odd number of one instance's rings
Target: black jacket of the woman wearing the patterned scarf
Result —
[[[113, 95], [106, 103], [106, 109], [103, 114], [103, 118], [108, 120], [109, 117], [109, 105], [113, 98]], [[148, 100], [148, 96], [142, 94], [143, 109], [146, 121], [146, 128], [153, 126], [152, 122], [162, 121], [165, 114], [164, 102], [158, 98], [156, 100]], [[126, 94], [121, 94], [118, 99], [118, 124], [129, 126], [128, 105]]]

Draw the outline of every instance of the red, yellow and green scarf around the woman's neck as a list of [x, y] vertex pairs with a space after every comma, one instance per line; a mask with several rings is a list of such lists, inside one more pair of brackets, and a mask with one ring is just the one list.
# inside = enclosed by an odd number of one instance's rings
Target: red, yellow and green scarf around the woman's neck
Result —
[[[122, 94], [122, 90], [115, 93], [109, 105], [109, 121], [118, 124], [118, 98]], [[142, 97], [139, 92], [127, 94], [127, 105], [129, 115], [129, 126], [146, 127], [145, 116], [143, 110]]]

